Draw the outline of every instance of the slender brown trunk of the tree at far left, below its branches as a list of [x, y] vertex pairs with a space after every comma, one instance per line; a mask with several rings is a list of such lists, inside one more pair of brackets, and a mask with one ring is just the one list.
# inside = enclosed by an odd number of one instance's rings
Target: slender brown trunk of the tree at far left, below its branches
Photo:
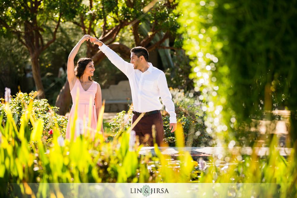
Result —
[[38, 56], [34, 56], [34, 57], [31, 56], [31, 63], [32, 63], [32, 73], [33, 73], [34, 82], [35, 82], [37, 91], [39, 91], [37, 98], [44, 99], [45, 94], [44, 94], [44, 88], [43, 88], [42, 81], [41, 81], [40, 65], [39, 65], [39, 61], [38, 61]]

